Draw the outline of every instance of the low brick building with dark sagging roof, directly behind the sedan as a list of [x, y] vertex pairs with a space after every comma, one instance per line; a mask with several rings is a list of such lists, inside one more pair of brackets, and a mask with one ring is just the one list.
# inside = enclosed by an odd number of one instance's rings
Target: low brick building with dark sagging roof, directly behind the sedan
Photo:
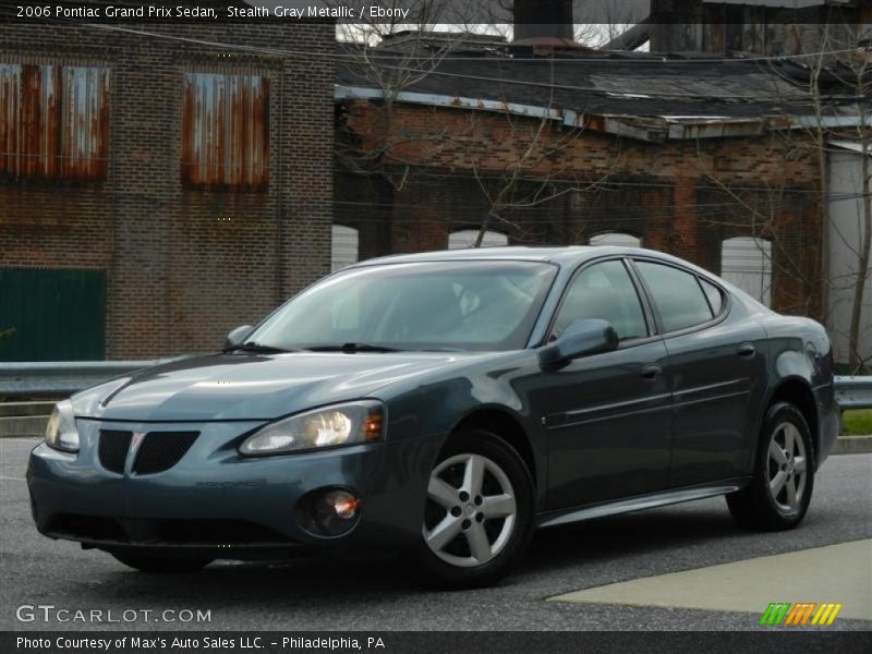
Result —
[[386, 84], [409, 60], [338, 70], [335, 220], [361, 258], [468, 243], [486, 219], [493, 243], [641, 244], [820, 316], [819, 158], [789, 60], [528, 41]]

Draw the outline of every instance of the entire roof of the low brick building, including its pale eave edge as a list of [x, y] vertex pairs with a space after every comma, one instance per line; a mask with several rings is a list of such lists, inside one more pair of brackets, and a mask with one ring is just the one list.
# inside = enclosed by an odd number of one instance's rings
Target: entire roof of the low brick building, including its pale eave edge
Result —
[[[652, 62], [652, 57], [644, 65], [616, 57], [431, 60], [419, 63], [422, 74], [396, 99], [536, 116], [646, 141], [754, 135], [798, 125], [791, 121], [813, 113], [807, 87], [791, 83], [808, 74], [797, 64], [726, 58]], [[384, 70], [373, 75], [372, 65]], [[339, 65], [337, 99], [382, 97], [375, 78], [390, 80], [395, 65], [414, 63], [379, 59]], [[847, 120], [837, 108], [838, 94], [849, 90], [826, 92], [836, 97], [828, 119]]]

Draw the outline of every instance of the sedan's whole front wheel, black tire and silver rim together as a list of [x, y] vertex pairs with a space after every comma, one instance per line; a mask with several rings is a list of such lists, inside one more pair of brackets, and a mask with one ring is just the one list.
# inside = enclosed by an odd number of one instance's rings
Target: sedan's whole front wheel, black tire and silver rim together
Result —
[[428, 482], [416, 569], [424, 583], [494, 583], [523, 557], [534, 528], [534, 485], [518, 452], [473, 429], [451, 436]]

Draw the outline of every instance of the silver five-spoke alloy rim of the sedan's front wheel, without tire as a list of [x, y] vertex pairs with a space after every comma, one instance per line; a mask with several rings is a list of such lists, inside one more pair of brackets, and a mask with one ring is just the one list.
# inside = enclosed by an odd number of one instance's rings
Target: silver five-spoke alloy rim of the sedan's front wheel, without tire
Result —
[[514, 489], [502, 469], [482, 455], [457, 455], [431, 473], [424, 542], [452, 566], [481, 566], [506, 547], [517, 514]]

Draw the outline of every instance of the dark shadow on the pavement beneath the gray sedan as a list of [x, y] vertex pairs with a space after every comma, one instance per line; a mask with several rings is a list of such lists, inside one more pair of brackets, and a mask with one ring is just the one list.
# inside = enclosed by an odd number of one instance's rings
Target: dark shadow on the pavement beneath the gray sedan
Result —
[[[735, 536], [738, 531], [726, 507], [692, 512], [656, 510], [542, 530], [518, 572], [497, 588], [505, 590], [543, 577], [565, 578], [570, 571], [583, 574], [589, 566], [662, 556], [691, 543]], [[132, 594], [137, 600], [158, 601], [166, 593], [174, 603], [209, 597], [213, 604], [253, 608], [265, 602], [295, 606], [311, 602], [314, 595], [318, 602], [341, 597], [346, 604], [362, 604], [377, 596], [384, 603], [417, 590], [414, 570], [402, 560], [347, 562], [328, 557], [220, 561], [202, 572], [171, 578], [129, 571], [118, 564], [99, 584], [104, 600], [113, 595], [130, 598]]]

